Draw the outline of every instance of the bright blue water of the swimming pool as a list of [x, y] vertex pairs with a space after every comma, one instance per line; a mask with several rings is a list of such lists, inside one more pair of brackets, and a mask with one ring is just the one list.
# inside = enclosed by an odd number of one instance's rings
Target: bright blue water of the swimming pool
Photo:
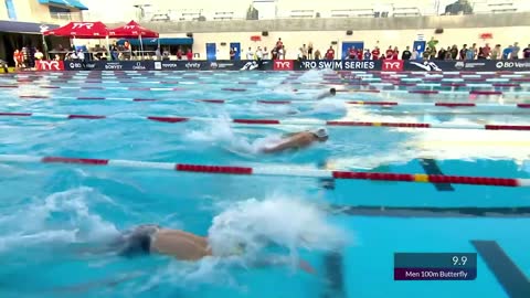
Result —
[[[529, 125], [529, 78], [312, 71], [4, 75], [0, 160], [52, 156], [268, 167], [275, 173], [310, 173], [326, 164], [341, 171], [528, 179], [530, 132], [513, 129]], [[316, 93], [330, 86], [341, 91], [338, 96], [316, 103]], [[256, 155], [282, 134], [326, 121], [356, 126], [330, 125], [330, 140], [308, 150]], [[389, 123], [432, 127], [382, 125]], [[484, 129], [486, 124], [506, 129]], [[325, 188], [304, 174], [3, 161], [1, 297], [528, 297], [528, 284], [518, 284], [530, 275], [530, 244], [522, 241], [530, 231], [528, 188], [341, 179]], [[239, 259], [187, 264], [71, 249], [141, 223], [206, 235], [214, 219], [261, 230], [247, 233], [268, 237], [277, 244], [274, 252], [299, 256], [317, 274], [245, 268]], [[226, 226], [245, 233], [244, 226]], [[476, 280], [393, 280], [394, 253], [475, 253], [471, 241], [498, 244], [479, 255]], [[491, 259], [498, 247], [521, 274]]]

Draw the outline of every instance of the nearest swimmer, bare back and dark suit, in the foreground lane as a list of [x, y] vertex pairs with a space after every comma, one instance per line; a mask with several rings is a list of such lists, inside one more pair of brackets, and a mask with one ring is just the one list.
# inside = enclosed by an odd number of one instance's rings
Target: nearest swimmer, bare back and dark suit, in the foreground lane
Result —
[[[215, 256], [212, 253], [208, 237], [198, 236], [180, 230], [165, 228], [159, 225], [139, 225], [132, 230], [121, 233], [110, 243], [93, 251], [92, 253], [115, 253], [124, 257], [141, 255], [167, 255], [180, 260], [200, 260], [204, 257]], [[220, 257], [237, 256], [245, 253], [243, 244], [233, 248], [230, 255]], [[254, 266], [288, 265], [289, 259], [282, 256], [267, 256], [266, 259], [256, 260]], [[299, 267], [307, 273], [315, 273], [315, 269], [304, 260]]]

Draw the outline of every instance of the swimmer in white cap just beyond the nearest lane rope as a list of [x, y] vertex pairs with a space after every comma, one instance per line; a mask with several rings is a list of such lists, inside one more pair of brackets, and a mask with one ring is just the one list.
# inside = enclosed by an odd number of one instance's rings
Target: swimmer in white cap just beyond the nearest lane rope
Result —
[[306, 148], [311, 143], [319, 141], [325, 142], [329, 138], [326, 128], [319, 128], [315, 131], [301, 131], [288, 134], [279, 143], [263, 148], [264, 153], [275, 153], [287, 149]]

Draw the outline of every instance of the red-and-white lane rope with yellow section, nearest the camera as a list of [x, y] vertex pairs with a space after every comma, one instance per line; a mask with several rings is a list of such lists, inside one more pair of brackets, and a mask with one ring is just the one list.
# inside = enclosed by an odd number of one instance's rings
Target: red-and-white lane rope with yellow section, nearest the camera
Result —
[[106, 166], [126, 169], [169, 170], [179, 172], [194, 172], [209, 174], [235, 175], [263, 175], [263, 177], [296, 177], [296, 178], [333, 178], [343, 180], [369, 180], [414, 183], [453, 183], [468, 185], [489, 185], [508, 188], [529, 188], [530, 179], [521, 178], [494, 178], [469, 175], [430, 175], [417, 173], [385, 173], [385, 172], [352, 172], [337, 170], [319, 170], [315, 168], [299, 168], [288, 166], [263, 164], [257, 167], [246, 166], [218, 166], [218, 164], [189, 164], [176, 162], [153, 162], [139, 160], [95, 159], [77, 157], [46, 157], [24, 155], [0, 155], [0, 162], [6, 163], [47, 163], [47, 164], [83, 164]]

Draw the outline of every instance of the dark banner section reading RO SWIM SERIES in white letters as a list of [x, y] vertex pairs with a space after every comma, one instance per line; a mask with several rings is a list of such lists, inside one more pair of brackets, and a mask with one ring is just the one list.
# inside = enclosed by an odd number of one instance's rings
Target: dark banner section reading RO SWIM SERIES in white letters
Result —
[[381, 61], [358, 61], [358, 60], [320, 60], [300, 61], [295, 63], [296, 71], [307, 70], [341, 70], [341, 71], [380, 71]]

